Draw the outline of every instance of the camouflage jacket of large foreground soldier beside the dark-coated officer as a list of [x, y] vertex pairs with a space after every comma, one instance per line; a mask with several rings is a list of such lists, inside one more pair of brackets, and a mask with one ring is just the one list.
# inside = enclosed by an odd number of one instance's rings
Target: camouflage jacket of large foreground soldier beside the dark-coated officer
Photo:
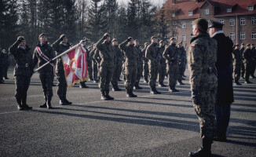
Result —
[[[192, 38], [188, 48], [188, 69], [192, 91], [199, 91], [201, 87], [210, 88], [211, 83], [217, 83], [217, 75], [210, 72], [215, 69], [217, 61], [217, 41], [208, 34]], [[203, 86], [207, 84], [207, 86]]]

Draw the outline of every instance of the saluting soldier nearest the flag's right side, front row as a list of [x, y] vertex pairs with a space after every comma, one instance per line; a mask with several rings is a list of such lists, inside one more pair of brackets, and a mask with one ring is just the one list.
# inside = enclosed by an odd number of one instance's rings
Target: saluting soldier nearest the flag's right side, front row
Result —
[[101, 100], [114, 100], [114, 97], [109, 96], [109, 83], [112, 81], [115, 70], [116, 53], [111, 44], [110, 35], [105, 33], [104, 36], [97, 42], [101, 57], [100, 75], [101, 81], [99, 87], [101, 89]]

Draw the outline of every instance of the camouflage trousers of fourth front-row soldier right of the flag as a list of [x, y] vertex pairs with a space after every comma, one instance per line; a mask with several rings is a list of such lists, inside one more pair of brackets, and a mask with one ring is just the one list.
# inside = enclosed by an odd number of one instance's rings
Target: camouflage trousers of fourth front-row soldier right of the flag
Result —
[[170, 87], [175, 87], [178, 75], [178, 66], [175, 64], [167, 65], [168, 83]]

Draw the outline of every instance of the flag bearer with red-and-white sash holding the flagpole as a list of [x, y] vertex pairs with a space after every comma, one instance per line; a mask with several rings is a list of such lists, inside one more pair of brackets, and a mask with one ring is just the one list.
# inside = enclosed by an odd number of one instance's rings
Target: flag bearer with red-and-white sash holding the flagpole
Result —
[[38, 37], [40, 43], [36, 46], [34, 55], [33, 55], [33, 69], [35, 65], [38, 63], [38, 67], [50, 62], [50, 64], [46, 65], [46, 67], [40, 69], [39, 79], [42, 84], [42, 91], [45, 97], [46, 102], [40, 105], [40, 108], [48, 108], [51, 109], [52, 104], [51, 100], [53, 97], [53, 78], [55, 72], [55, 63], [52, 59], [55, 57], [54, 49], [52, 46], [49, 46], [47, 43], [46, 34], [42, 33]]

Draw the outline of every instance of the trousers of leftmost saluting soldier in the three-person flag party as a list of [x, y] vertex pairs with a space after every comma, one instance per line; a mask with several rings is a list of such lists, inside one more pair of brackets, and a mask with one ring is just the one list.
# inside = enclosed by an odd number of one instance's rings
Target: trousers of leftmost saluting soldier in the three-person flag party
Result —
[[15, 79], [15, 86], [16, 86], [16, 92], [15, 92], [16, 99], [27, 98], [27, 89], [29, 87], [31, 77], [24, 76], [24, 75], [16, 75], [14, 79]]

